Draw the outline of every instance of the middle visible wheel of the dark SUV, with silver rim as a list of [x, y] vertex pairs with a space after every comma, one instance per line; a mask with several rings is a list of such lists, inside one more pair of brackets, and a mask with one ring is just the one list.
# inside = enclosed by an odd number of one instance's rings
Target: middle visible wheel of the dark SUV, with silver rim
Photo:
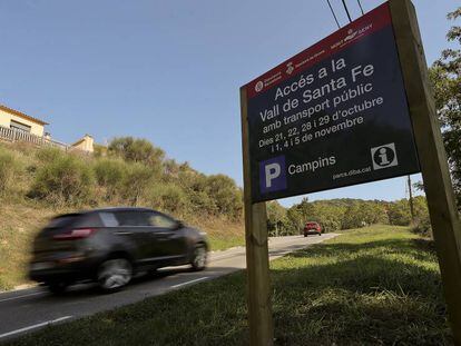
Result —
[[104, 291], [111, 293], [127, 285], [131, 276], [133, 267], [128, 259], [108, 259], [99, 266], [98, 284]]

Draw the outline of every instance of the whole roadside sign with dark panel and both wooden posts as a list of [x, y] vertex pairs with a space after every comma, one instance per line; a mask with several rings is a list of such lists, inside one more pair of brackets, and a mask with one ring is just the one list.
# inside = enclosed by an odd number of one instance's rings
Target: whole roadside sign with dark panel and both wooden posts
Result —
[[413, 4], [390, 0], [241, 88], [251, 345], [274, 340], [266, 200], [421, 171], [461, 345], [461, 226]]

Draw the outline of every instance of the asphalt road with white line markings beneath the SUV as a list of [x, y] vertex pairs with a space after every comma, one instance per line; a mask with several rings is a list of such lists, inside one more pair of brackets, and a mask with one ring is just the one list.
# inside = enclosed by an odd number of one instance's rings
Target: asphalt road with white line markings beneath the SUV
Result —
[[[335, 236], [335, 234], [326, 234], [307, 238], [303, 236], [271, 238], [269, 257], [274, 259]], [[110, 295], [99, 294], [96, 286], [91, 284], [72, 286], [62, 296], [53, 296], [43, 287], [2, 293], [0, 294], [0, 342], [49, 324], [63, 323], [212, 280], [245, 267], [245, 248], [237, 247], [209, 254], [206, 270], [192, 271], [188, 267], [160, 269], [155, 276], [135, 278], [126, 289]]]

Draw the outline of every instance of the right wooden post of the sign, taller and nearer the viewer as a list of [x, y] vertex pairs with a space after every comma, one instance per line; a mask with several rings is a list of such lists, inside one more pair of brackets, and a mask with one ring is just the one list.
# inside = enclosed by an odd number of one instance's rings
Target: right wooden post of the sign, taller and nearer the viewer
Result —
[[461, 345], [461, 227], [414, 7], [390, 0], [449, 318]]

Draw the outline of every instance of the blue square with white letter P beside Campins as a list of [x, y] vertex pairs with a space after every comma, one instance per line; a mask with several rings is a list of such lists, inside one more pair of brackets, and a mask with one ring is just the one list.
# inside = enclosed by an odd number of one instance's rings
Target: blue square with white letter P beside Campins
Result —
[[285, 156], [259, 162], [259, 188], [262, 194], [286, 189]]

